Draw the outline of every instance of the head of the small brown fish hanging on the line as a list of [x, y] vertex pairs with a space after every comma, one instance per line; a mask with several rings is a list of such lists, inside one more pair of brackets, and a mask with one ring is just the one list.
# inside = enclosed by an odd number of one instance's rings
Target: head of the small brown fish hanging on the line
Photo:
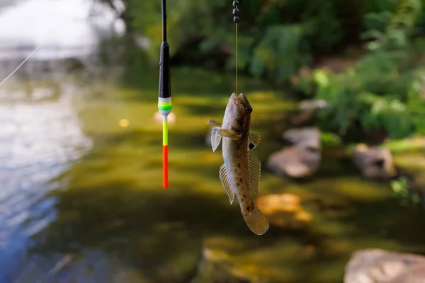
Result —
[[246, 127], [246, 123], [251, 121], [252, 107], [244, 93], [240, 93], [239, 96], [232, 93], [227, 103], [227, 112], [232, 117], [234, 127], [238, 129]]

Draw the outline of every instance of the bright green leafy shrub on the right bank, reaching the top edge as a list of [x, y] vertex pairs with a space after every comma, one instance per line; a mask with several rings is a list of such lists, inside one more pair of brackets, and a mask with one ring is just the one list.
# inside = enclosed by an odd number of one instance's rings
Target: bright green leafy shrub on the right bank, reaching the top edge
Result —
[[356, 124], [366, 132], [384, 130], [393, 139], [425, 133], [425, 69], [417, 64], [423, 58], [423, 42], [409, 39], [421, 1], [385, 4], [394, 11], [375, 6], [365, 15], [370, 28], [365, 37], [373, 41], [368, 43], [370, 53], [356, 67], [341, 74], [314, 72], [317, 98], [328, 103], [320, 117], [341, 136]]

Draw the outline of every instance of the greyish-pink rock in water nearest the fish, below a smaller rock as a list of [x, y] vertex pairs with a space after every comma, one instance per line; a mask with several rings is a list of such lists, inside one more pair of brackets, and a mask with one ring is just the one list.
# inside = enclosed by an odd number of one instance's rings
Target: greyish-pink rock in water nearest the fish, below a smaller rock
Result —
[[277, 175], [303, 178], [316, 173], [322, 152], [315, 141], [304, 141], [277, 151], [268, 158], [268, 170]]

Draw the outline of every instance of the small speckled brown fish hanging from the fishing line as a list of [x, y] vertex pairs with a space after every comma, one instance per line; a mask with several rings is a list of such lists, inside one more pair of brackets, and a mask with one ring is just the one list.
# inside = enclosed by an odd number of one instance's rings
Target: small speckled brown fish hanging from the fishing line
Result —
[[236, 195], [242, 216], [249, 229], [257, 235], [268, 230], [268, 221], [251, 200], [251, 192], [259, 195], [261, 163], [249, 150], [260, 143], [259, 134], [249, 132], [252, 108], [244, 93], [232, 93], [227, 103], [222, 124], [209, 120], [211, 146], [215, 151], [222, 140], [225, 163], [220, 167], [220, 180], [229, 196], [230, 204]]

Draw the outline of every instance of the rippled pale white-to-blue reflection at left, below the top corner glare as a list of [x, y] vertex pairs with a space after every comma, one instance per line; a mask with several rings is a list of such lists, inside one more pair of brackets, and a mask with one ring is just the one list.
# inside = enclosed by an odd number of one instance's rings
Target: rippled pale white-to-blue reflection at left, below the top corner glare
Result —
[[[0, 96], [1, 250], [15, 250], [48, 223], [54, 216], [49, 212], [52, 200], [39, 202], [55, 185], [47, 181], [91, 148], [91, 140], [79, 128], [72, 96], [62, 91], [60, 98], [38, 102], [6, 103]], [[6, 99], [10, 96], [13, 93]], [[28, 219], [37, 221], [22, 229]]]

